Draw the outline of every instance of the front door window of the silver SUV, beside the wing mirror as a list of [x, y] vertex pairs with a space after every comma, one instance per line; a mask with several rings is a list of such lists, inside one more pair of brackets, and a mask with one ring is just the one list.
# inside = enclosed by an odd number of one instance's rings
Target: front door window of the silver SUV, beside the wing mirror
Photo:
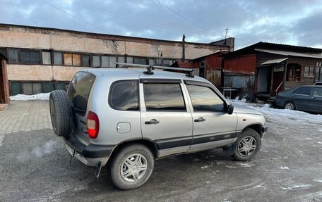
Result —
[[225, 111], [224, 101], [212, 89], [195, 85], [187, 85], [186, 87], [190, 94], [193, 111]]

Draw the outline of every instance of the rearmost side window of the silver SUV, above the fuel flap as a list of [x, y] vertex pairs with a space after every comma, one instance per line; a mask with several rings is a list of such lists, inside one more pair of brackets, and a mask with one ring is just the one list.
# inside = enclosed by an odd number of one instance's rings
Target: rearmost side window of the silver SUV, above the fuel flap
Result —
[[114, 82], [109, 89], [109, 106], [121, 111], [138, 110], [138, 81]]

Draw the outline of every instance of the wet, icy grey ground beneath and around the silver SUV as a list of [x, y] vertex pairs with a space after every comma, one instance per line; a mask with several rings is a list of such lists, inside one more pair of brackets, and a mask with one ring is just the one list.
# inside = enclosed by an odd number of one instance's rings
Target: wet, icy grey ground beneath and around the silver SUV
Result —
[[106, 168], [96, 179], [93, 168], [70, 165], [52, 130], [6, 134], [0, 201], [322, 201], [321, 122], [264, 115], [269, 130], [253, 160], [235, 161], [222, 149], [162, 158], [131, 191], [115, 188]]

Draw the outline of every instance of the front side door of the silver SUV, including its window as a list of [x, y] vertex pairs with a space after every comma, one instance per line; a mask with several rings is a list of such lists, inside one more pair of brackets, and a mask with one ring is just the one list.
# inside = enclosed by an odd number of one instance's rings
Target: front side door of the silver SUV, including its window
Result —
[[237, 115], [227, 114], [225, 101], [210, 84], [187, 82], [193, 106], [193, 141], [189, 151], [225, 146], [236, 137]]

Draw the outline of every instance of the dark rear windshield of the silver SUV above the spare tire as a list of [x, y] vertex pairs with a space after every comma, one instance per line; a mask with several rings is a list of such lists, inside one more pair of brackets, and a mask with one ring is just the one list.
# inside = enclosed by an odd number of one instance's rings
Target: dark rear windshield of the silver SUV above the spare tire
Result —
[[95, 81], [95, 75], [89, 72], [78, 72], [68, 86], [67, 94], [71, 98], [73, 109], [84, 116], [88, 105], [90, 89]]

